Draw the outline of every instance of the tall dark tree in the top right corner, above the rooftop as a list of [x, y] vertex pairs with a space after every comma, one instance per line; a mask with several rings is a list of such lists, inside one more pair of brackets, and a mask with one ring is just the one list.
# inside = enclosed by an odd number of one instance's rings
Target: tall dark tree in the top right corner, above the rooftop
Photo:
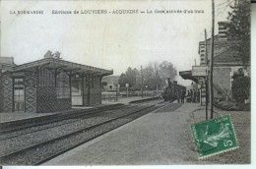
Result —
[[230, 6], [231, 12], [228, 12], [227, 24], [228, 33], [233, 40], [237, 40], [235, 48], [238, 49], [242, 55], [244, 64], [250, 62], [250, 1], [237, 0], [237, 2]]

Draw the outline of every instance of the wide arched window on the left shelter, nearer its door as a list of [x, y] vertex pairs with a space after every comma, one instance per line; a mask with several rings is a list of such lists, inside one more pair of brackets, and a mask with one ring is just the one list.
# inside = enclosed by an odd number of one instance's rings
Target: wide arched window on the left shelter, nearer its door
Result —
[[38, 85], [39, 86], [55, 86], [55, 77], [52, 72], [44, 69], [38, 74]]

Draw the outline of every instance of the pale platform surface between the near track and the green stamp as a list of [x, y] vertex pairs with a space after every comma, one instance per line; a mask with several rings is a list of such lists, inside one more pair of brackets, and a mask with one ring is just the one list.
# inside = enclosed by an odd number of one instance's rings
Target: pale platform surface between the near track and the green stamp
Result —
[[[43, 165], [155, 165], [184, 163], [181, 129], [198, 104], [163, 106]], [[194, 154], [196, 157], [196, 153]]]

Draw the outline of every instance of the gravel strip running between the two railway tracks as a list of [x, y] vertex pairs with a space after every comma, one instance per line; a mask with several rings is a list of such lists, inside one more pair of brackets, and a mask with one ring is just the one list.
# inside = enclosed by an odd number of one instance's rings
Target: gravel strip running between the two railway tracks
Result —
[[0, 156], [6, 153], [17, 151], [24, 147], [31, 146], [33, 144], [38, 144], [43, 141], [48, 141], [56, 137], [61, 137], [66, 134], [76, 132], [76, 130], [79, 129], [91, 127], [114, 117], [121, 117], [126, 113], [136, 110], [137, 106], [138, 105], [126, 106], [116, 110], [102, 111], [91, 116], [83, 116], [77, 119], [71, 119], [72, 121], [70, 121], [68, 124], [64, 123], [63, 125], [56, 125], [51, 128], [45, 128], [45, 126], [32, 127], [26, 129], [24, 134], [23, 132], [19, 132], [19, 135], [13, 137], [7, 135], [9, 138], [0, 141]]

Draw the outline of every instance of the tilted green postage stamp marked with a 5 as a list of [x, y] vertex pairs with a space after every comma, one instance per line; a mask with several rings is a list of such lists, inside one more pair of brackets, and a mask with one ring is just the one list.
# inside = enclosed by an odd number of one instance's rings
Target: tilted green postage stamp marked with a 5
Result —
[[193, 124], [191, 130], [199, 158], [238, 147], [230, 115]]

